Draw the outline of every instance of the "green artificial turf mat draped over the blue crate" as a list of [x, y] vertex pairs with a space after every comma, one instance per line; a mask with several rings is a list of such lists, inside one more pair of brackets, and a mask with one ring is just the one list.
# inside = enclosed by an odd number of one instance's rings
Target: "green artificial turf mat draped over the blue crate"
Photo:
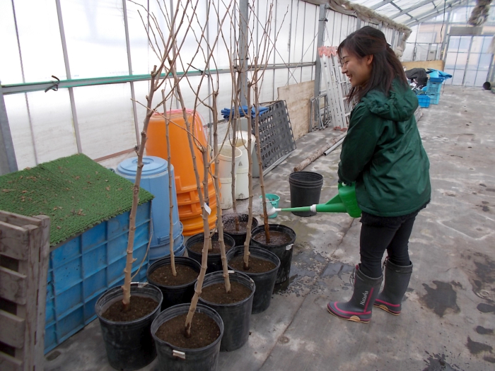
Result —
[[[50, 216], [57, 245], [132, 208], [129, 180], [86, 155], [71, 155], [0, 177], [0, 210]], [[139, 204], [153, 195], [139, 190]]]

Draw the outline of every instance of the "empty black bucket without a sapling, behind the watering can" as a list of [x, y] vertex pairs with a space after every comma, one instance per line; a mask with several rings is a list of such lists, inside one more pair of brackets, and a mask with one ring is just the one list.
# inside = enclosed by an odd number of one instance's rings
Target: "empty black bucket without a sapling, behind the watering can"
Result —
[[[299, 171], [289, 175], [291, 207], [311, 206], [320, 203], [323, 176], [318, 172]], [[293, 211], [296, 216], [313, 216], [316, 211]]]

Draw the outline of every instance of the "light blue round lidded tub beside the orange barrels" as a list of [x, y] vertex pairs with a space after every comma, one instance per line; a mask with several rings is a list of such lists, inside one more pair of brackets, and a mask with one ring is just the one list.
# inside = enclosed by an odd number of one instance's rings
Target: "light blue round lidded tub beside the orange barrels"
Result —
[[[144, 156], [143, 172], [140, 187], [146, 189], [155, 196], [151, 202], [151, 220], [153, 230], [151, 245], [149, 248], [149, 264], [170, 255], [170, 234], [173, 236], [173, 252], [175, 256], [182, 256], [185, 251], [184, 236], [182, 235], [182, 223], [179, 221], [177, 207], [177, 192], [175, 181], [172, 182], [172, 220], [173, 230], [170, 233], [170, 198], [168, 190], [168, 163], [163, 158]], [[137, 158], [128, 158], [117, 166], [117, 174], [134, 183], [136, 179]], [[173, 166], [172, 179], [174, 177]]]

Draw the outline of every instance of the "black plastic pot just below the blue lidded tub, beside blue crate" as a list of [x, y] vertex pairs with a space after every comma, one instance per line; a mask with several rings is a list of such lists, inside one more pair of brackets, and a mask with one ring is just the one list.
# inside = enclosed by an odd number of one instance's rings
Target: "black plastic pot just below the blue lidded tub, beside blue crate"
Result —
[[[153, 281], [150, 278], [151, 273], [156, 271], [156, 269], [160, 268], [161, 266], [167, 265], [170, 265], [170, 257], [165, 257], [155, 261], [153, 264], [151, 264], [151, 266], [148, 267], [148, 271], [146, 271], [146, 278], [148, 278], [148, 282], [156, 285], [156, 287], [159, 288], [163, 294], [161, 310], [165, 310], [168, 307], [182, 304], [184, 302], [191, 302], [192, 296], [194, 295], [194, 284], [197, 281], [194, 280], [190, 283], [185, 283], [184, 285], [167, 286]], [[175, 257], [175, 265], [189, 266], [190, 268], [194, 269], [194, 271], [197, 271], [198, 274], [201, 270], [201, 264], [188, 257]]]

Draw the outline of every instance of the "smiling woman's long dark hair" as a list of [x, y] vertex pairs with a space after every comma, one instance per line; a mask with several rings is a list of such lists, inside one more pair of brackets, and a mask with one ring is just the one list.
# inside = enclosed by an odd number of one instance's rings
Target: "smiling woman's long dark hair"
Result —
[[351, 88], [348, 95], [349, 100], [356, 98], [359, 102], [368, 91], [373, 89], [381, 90], [385, 95], [388, 95], [392, 81], [396, 77], [404, 83], [404, 86], [407, 86], [407, 78], [402, 64], [380, 30], [367, 25], [351, 33], [340, 43], [337, 49], [339, 58], [342, 57], [342, 49], [344, 48], [358, 58], [373, 55], [371, 76], [368, 82], [364, 86]]

